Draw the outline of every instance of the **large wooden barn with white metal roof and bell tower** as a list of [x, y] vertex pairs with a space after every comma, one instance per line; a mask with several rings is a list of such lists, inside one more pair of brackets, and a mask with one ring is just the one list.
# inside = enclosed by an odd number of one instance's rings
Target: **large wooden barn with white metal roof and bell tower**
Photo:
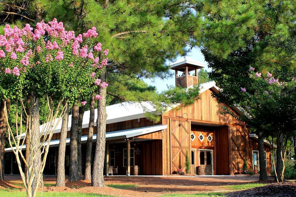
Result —
[[[176, 86], [190, 88], [198, 84], [197, 70], [204, 64], [192, 59], [175, 62]], [[241, 170], [244, 158], [248, 169], [259, 170], [257, 136], [249, 133], [245, 123], [232, 116], [221, 115], [221, 107], [235, 114], [238, 108], [218, 103], [212, 97], [218, 92], [215, 82], [200, 85], [200, 99], [186, 107], [177, 107], [160, 114], [158, 123], [147, 120], [145, 111], [155, 111], [149, 102], [119, 103], [107, 106], [105, 173], [111, 175], [170, 175], [177, 169], [185, 170], [186, 151], [191, 162], [191, 174], [204, 169], [204, 175], [234, 175]], [[95, 111], [95, 120], [97, 111]], [[82, 124], [82, 169], [86, 152], [89, 111], [84, 113]], [[95, 121], [96, 126], [96, 121]], [[65, 169], [69, 168], [71, 115], [68, 123]], [[60, 128], [54, 131], [44, 175], [55, 175]], [[96, 143], [94, 129], [93, 143]], [[93, 145], [93, 152], [95, 146]], [[265, 142], [265, 167], [271, 174], [270, 144]], [[23, 148], [24, 149], [24, 148]], [[5, 149], [5, 174], [19, 174], [11, 148]]]

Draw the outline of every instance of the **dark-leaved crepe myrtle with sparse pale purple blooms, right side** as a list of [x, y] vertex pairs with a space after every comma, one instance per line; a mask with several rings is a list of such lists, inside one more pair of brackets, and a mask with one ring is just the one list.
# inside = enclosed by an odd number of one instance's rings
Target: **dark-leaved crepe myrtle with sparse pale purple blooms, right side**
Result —
[[[240, 83], [240, 86], [237, 86], [238, 83], [233, 83], [228, 88], [223, 86], [221, 95], [216, 94], [216, 97], [220, 99], [228, 97], [227, 95], [232, 91], [236, 91], [235, 96], [232, 94], [232, 99], [235, 100], [233, 104], [241, 108], [242, 115], [236, 115], [226, 107], [223, 108], [221, 113], [231, 114], [236, 119], [240, 119], [255, 128], [255, 132], [259, 136], [259, 161], [262, 161], [259, 168], [261, 176], [266, 176], [263, 139], [269, 135], [276, 135], [277, 161], [275, 163], [273, 160], [273, 166], [276, 169], [276, 180], [282, 182], [286, 159], [284, 147], [286, 141], [291, 137], [290, 134], [295, 130], [296, 107], [293, 101], [296, 98], [294, 91], [296, 80], [290, 78], [286, 82], [280, 82], [271, 73], [255, 72], [255, 68], [250, 66], [249, 74], [243, 80], [240, 80]], [[264, 177], [261, 177], [261, 179], [264, 179]]]

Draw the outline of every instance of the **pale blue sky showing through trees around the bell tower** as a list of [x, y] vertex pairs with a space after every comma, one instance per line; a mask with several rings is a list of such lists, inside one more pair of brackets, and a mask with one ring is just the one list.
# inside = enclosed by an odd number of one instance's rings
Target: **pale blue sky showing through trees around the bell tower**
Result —
[[[193, 48], [191, 50], [191, 52], [187, 54], [187, 56], [208, 65], [208, 63], [204, 60], [203, 54], [200, 52], [200, 50], [198, 48]], [[170, 62], [168, 62], [168, 64], [170, 64]], [[210, 69], [208, 67], [205, 67], [205, 69], [210, 71]], [[171, 70], [171, 72], [173, 73], [174, 71]], [[144, 81], [149, 85], [156, 86], [158, 92], [161, 92], [163, 90], [167, 90], [167, 85], [168, 86], [170, 86], [170, 85], [175, 86], [175, 78], [174, 77], [167, 78], [164, 80], [161, 78], [146, 78], [146, 79], [144, 79]]]

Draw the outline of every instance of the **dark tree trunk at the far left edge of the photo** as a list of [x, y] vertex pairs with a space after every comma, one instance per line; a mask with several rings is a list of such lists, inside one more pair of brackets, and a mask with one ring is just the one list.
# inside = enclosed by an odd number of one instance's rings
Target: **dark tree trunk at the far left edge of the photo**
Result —
[[[0, 101], [0, 176], [1, 180], [4, 179], [4, 151], [5, 151], [5, 139], [7, 131], [7, 123], [4, 116], [4, 101]], [[7, 112], [10, 109], [10, 100], [6, 100]]]

